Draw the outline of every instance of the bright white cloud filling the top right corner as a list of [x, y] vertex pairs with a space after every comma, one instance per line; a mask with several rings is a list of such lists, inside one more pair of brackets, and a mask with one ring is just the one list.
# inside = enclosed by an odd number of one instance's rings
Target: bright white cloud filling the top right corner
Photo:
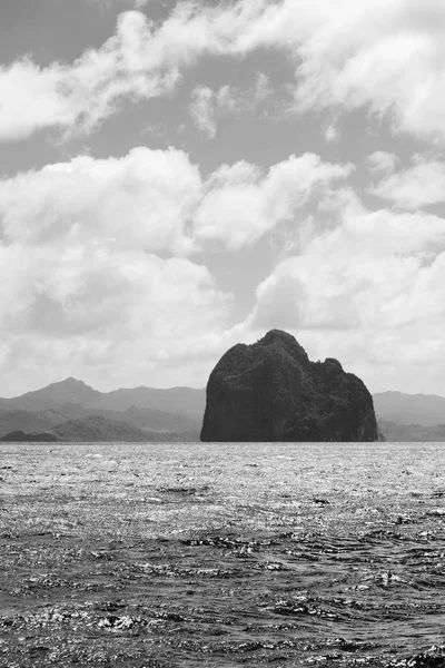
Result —
[[369, 105], [397, 129], [443, 137], [444, 35], [441, 0], [285, 0], [265, 10], [244, 43], [290, 50], [300, 109]]

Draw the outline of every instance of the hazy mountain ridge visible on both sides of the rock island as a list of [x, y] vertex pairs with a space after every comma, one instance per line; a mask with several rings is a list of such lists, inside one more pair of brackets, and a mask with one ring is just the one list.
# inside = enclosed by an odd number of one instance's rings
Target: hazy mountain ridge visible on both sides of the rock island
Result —
[[[445, 396], [387, 390], [373, 394], [373, 401], [388, 441], [445, 440]], [[14, 431], [51, 433], [69, 420], [88, 425], [88, 419], [96, 416], [127, 423], [150, 441], [199, 440], [205, 403], [204, 389], [138, 385], [100, 392], [69, 376], [22, 395], [0, 397], [0, 438]]]

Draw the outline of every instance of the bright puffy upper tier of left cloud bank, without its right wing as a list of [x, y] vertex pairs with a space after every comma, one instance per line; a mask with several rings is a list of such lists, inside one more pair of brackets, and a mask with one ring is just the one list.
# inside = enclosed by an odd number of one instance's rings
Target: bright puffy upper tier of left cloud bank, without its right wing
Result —
[[10, 243], [184, 254], [200, 188], [186, 154], [141, 147], [123, 158], [80, 156], [0, 181], [0, 216]]

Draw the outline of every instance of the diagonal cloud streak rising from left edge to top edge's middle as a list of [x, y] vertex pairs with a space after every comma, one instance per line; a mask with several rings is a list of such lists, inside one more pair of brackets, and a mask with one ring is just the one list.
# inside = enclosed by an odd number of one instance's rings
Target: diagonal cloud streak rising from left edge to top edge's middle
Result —
[[253, 8], [198, 8], [179, 2], [160, 24], [140, 11], [118, 17], [116, 32], [72, 63], [40, 68], [29, 57], [0, 67], [0, 140], [29, 137], [43, 128], [65, 136], [91, 132], [126, 102], [170, 94], [180, 71], [206, 53], [231, 50]]

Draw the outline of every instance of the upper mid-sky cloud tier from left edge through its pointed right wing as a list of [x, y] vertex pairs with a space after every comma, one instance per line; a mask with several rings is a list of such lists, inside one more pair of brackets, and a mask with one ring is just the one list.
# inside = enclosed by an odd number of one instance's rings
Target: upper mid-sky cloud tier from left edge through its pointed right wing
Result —
[[181, 150], [134, 148], [122, 158], [79, 156], [0, 180], [7, 243], [100, 244], [186, 256], [251, 244], [291, 220], [316, 193], [344, 180], [352, 165], [290, 156], [267, 174], [247, 161], [207, 178]]

